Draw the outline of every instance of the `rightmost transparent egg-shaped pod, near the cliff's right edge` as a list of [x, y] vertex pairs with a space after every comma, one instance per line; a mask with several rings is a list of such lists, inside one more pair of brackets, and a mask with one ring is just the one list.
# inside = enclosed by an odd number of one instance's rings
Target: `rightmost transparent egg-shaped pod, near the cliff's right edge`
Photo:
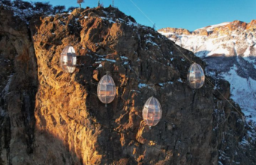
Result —
[[187, 79], [188, 85], [192, 89], [200, 89], [203, 86], [205, 79], [201, 66], [197, 65], [197, 63], [192, 64], [188, 69]]

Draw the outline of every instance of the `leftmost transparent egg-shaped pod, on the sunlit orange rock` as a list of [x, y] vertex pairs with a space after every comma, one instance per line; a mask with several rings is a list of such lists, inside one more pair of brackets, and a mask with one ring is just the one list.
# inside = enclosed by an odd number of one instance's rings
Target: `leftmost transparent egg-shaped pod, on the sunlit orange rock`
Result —
[[77, 65], [77, 55], [73, 46], [65, 46], [62, 50], [60, 65], [66, 73], [73, 73]]

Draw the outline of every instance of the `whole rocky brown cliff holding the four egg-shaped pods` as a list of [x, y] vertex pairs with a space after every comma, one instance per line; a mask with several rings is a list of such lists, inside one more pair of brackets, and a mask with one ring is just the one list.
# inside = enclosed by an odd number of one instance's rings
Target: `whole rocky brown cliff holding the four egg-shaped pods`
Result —
[[[35, 17], [29, 27], [0, 13], [1, 164], [256, 162], [253, 129], [216, 91], [228, 98], [229, 84], [208, 77], [190, 89], [182, 53], [205, 63], [152, 28], [113, 7]], [[59, 66], [68, 44], [78, 55], [73, 74]], [[117, 93], [107, 108], [96, 95], [106, 71]], [[163, 118], [149, 128], [141, 111], [152, 95]]]

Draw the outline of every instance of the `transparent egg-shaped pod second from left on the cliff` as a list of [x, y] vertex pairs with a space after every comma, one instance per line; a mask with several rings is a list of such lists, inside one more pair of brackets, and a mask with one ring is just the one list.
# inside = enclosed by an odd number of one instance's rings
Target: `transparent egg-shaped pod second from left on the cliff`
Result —
[[111, 103], [116, 96], [116, 85], [110, 75], [104, 75], [98, 83], [98, 99], [104, 104]]

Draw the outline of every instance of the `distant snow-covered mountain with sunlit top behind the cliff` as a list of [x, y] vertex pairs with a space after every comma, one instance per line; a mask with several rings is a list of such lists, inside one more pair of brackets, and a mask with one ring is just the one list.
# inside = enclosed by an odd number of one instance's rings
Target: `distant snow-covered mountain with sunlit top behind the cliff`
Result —
[[195, 31], [162, 28], [159, 33], [207, 63], [206, 75], [230, 83], [231, 98], [256, 122], [256, 20], [233, 21]]

